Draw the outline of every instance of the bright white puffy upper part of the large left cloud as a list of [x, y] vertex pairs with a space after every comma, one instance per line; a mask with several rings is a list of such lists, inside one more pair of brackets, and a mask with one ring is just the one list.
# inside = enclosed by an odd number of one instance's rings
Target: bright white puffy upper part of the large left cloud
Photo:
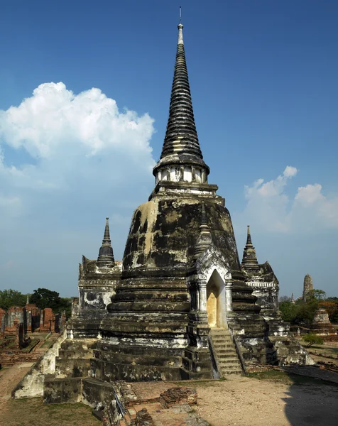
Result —
[[75, 95], [62, 82], [40, 84], [19, 107], [1, 111], [0, 123], [6, 143], [38, 158], [53, 158], [60, 148], [67, 155], [74, 145], [87, 155], [109, 147], [151, 153], [153, 119], [119, 111], [100, 89]]

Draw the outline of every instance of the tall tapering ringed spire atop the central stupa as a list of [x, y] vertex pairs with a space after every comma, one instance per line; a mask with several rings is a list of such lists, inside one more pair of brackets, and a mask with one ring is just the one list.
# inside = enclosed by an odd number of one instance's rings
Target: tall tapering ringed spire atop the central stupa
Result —
[[[176, 53], [175, 72], [173, 87], [171, 90], [170, 109], [167, 130], [163, 143], [160, 161], [153, 170], [153, 174], [158, 180], [173, 180], [166, 174], [168, 166], [185, 165], [200, 168], [197, 175], [205, 174], [206, 182], [209, 168], [203, 161], [200, 143], [197, 137], [194, 111], [192, 110], [192, 100], [190, 94], [189, 78], [187, 75], [187, 64], [185, 62], [185, 48], [183, 44], [183, 25], [178, 24], [178, 48]], [[165, 166], [165, 168], [163, 168]], [[162, 169], [163, 173], [158, 172]], [[183, 175], [174, 180], [195, 181], [195, 173], [190, 171], [190, 178]], [[200, 180], [203, 182], [203, 180]]]

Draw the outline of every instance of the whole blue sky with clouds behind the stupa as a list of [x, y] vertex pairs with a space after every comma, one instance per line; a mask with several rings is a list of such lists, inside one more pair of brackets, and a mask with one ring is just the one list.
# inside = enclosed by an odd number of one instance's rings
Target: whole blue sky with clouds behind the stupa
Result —
[[239, 255], [337, 294], [337, 1], [1, 2], [0, 289], [77, 295], [153, 189], [178, 6], [197, 132]]

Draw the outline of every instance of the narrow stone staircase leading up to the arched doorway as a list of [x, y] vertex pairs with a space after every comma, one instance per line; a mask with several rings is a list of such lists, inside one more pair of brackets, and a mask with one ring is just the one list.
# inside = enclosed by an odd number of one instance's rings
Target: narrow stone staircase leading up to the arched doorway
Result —
[[222, 377], [243, 373], [229, 329], [210, 329], [209, 337], [217, 368]]

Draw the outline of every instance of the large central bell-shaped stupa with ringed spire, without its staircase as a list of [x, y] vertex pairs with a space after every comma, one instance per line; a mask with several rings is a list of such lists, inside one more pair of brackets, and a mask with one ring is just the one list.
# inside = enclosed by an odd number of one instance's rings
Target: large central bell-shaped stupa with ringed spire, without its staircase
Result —
[[230, 329], [246, 359], [273, 356], [261, 307], [241, 271], [229, 211], [208, 182], [182, 30], [180, 23], [155, 187], [133, 214], [121, 280], [94, 351], [93, 373], [102, 380], [211, 377], [211, 329]]

